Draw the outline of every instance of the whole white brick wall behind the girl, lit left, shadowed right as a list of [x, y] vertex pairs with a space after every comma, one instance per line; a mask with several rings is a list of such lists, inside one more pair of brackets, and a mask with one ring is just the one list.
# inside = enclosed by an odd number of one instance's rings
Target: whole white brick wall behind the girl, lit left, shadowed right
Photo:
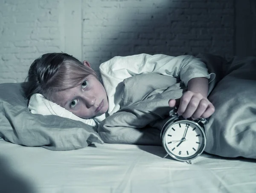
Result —
[[142, 52], [231, 56], [234, 39], [233, 0], [0, 0], [0, 83], [23, 81], [46, 52], [97, 69]]

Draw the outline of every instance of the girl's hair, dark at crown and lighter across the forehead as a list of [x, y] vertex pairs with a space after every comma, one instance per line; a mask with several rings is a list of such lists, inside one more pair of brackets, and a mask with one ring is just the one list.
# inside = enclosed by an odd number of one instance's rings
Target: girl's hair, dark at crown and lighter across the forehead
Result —
[[26, 78], [26, 97], [40, 93], [54, 101], [55, 93], [73, 88], [88, 75], [98, 78], [96, 72], [81, 61], [66, 53], [47, 53], [36, 59]]

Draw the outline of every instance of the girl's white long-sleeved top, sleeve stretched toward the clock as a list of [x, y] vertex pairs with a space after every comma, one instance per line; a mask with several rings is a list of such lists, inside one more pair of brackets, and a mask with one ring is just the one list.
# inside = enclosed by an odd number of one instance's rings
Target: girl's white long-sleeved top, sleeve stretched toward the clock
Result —
[[[116, 112], [122, 95], [122, 81], [134, 75], [157, 73], [179, 78], [185, 86], [192, 78], [205, 77], [209, 82], [215, 74], [208, 73], [206, 64], [191, 55], [168, 56], [163, 54], [139, 54], [132, 56], [116, 56], [99, 66], [102, 83], [108, 95], [109, 110]], [[113, 104], [113, 105], [112, 105]]]

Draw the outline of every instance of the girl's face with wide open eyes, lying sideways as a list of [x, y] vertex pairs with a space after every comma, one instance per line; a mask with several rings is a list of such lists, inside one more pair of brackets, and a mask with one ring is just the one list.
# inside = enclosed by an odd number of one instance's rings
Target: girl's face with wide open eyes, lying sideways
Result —
[[[90, 67], [90, 64], [84, 62]], [[104, 86], [93, 75], [88, 75], [76, 87], [57, 92], [55, 103], [81, 118], [92, 118], [107, 112], [108, 97]]]

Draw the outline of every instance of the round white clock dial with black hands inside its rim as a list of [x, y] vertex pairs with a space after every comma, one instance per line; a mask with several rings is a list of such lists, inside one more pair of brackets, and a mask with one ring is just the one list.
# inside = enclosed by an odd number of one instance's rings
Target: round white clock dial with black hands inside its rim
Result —
[[205, 134], [193, 121], [177, 121], [166, 129], [163, 145], [166, 151], [178, 160], [193, 159], [204, 150]]

